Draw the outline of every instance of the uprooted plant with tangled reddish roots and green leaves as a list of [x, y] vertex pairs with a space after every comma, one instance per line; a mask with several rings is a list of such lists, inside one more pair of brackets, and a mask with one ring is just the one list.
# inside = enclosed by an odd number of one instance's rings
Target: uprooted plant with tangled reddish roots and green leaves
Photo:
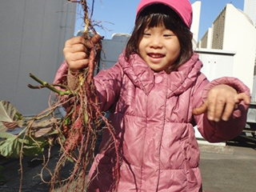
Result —
[[[86, 170], [94, 160], [94, 150], [99, 134], [103, 129], [107, 129], [111, 136], [111, 145], [116, 151], [114, 166], [115, 184], [112, 190], [117, 189], [119, 178], [119, 155], [118, 139], [114, 134], [114, 129], [110, 126], [102, 111], [99, 109], [98, 97], [95, 94], [94, 86], [94, 67], [98, 62], [101, 51], [102, 37], [96, 33], [94, 26], [90, 22], [88, 6], [86, 0], [70, 1], [81, 3], [84, 12], [85, 30], [83, 37], [90, 43], [90, 56], [88, 67], [74, 74], [77, 87], [74, 90], [68, 88], [68, 83], [64, 82], [58, 85], [50, 85], [30, 74], [30, 77], [38, 82], [39, 86], [31, 86], [32, 89], [41, 89], [46, 87], [57, 94], [57, 101], [51, 103], [50, 107], [42, 113], [25, 118], [19, 114], [18, 110], [10, 102], [0, 102], [0, 154], [5, 157], [20, 158], [22, 175], [22, 158], [24, 155], [42, 154], [45, 146], [49, 146], [49, 153], [43, 156], [42, 172], [50, 174], [50, 181], [44, 182], [50, 184], [50, 191], [56, 186], [65, 185], [65, 191], [68, 191], [73, 182], [73, 191], [83, 191], [86, 189]], [[93, 1], [94, 5], [94, 1]], [[91, 9], [91, 12], [93, 7]], [[90, 33], [89, 33], [90, 31]], [[64, 118], [56, 117], [55, 111], [59, 106], [66, 107]], [[104, 123], [104, 128], [102, 128]], [[8, 133], [7, 130], [20, 127], [21, 132], [17, 135]], [[50, 150], [54, 144], [60, 146], [58, 162], [54, 170], [47, 167], [50, 161]], [[67, 178], [61, 179], [59, 172], [66, 162], [73, 162], [73, 170]], [[74, 182], [76, 185], [74, 185]], [[22, 176], [20, 182], [20, 191], [22, 190]]]

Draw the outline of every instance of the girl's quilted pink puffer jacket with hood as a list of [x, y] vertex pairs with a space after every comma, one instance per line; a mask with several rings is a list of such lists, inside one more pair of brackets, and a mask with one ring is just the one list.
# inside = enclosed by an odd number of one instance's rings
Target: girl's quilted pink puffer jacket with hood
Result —
[[[58, 70], [55, 82], [61, 81], [66, 67], [64, 63]], [[113, 67], [94, 78], [102, 110], [110, 110], [110, 122], [120, 138], [118, 191], [201, 191], [194, 126], [209, 142], [222, 142], [242, 131], [248, 107], [243, 102], [228, 122], [209, 122], [205, 114], [193, 116], [192, 109], [218, 84], [250, 94], [237, 78], [209, 82], [201, 67], [198, 54], [194, 54], [178, 71], [154, 73], [137, 54], [129, 62], [120, 55]], [[104, 133], [101, 146], [108, 140]], [[115, 158], [111, 149], [97, 154], [90, 169], [94, 180], [89, 191], [110, 191]]]

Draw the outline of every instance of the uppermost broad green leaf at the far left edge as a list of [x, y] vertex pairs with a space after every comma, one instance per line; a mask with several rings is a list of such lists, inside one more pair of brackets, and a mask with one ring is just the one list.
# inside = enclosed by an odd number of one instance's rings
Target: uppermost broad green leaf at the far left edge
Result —
[[22, 127], [24, 123], [22, 114], [10, 102], [6, 101], [0, 101], [0, 131], [6, 131], [8, 127], [2, 122], [17, 123], [17, 127]]

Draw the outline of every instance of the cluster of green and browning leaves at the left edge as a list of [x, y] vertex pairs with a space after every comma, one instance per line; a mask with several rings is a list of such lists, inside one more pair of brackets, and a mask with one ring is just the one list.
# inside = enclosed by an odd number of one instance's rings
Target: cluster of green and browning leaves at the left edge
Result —
[[[0, 154], [6, 158], [42, 154], [49, 138], [58, 134], [58, 122], [56, 118], [37, 119], [24, 118], [10, 102], [0, 101]], [[18, 134], [10, 133], [17, 128]]]

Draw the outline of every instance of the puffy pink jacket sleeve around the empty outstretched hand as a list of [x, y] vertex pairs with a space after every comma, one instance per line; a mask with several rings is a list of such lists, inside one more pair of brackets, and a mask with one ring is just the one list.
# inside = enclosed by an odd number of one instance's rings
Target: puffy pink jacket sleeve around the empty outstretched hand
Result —
[[[193, 109], [201, 106], [203, 101], [206, 100], [207, 94], [211, 88], [225, 84], [232, 86], [240, 93], [246, 93], [250, 95], [249, 88], [243, 84], [238, 78], [218, 78], [212, 82], [208, 82], [203, 74], [200, 74], [198, 81], [195, 85], [194, 95], [192, 96]], [[235, 138], [242, 132], [246, 125], [246, 116], [248, 107], [243, 101], [238, 104], [238, 109], [234, 110], [230, 119], [220, 122], [212, 122], [207, 119], [207, 114], [194, 115], [194, 120], [198, 126], [199, 132], [202, 137], [208, 142], [224, 142], [231, 138]]]

